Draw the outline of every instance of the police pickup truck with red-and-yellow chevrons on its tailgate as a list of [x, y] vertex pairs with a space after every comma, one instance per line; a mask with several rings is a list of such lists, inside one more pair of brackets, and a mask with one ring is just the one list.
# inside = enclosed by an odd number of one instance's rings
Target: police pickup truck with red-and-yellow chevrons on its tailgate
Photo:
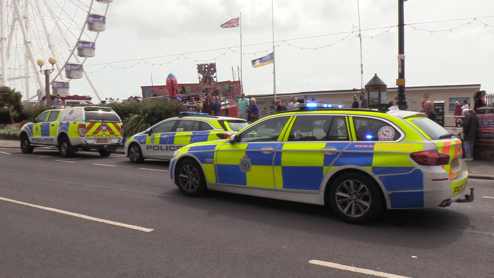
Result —
[[97, 149], [108, 156], [123, 141], [120, 117], [110, 107], [52, 106], [21, 128], [21, 150], [57, 147], [67, 157], [77, 150]]

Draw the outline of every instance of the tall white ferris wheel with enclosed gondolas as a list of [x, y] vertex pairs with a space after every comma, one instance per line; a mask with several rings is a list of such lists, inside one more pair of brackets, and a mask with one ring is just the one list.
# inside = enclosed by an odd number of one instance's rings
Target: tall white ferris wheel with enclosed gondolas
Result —
[[0, 85], [16, 88], [26, 100], [40, 99], [45, 96], [46, 82], [36, 62], [55, 57], [49, 77], [53, 94], [66, 95], [70, 80], [85, 78], [101, 101], [84, 63], [96, 54], [111, 2], [0, 0]]

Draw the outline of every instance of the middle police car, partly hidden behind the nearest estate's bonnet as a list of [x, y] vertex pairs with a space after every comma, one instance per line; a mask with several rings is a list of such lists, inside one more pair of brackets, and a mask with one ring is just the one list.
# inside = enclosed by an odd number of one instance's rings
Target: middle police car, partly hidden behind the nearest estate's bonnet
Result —
[[247, 121], [240, 118], [180, 112], [178, 117], [129, 137], [124, 146], [125, 154], [132, 163], [142, 163], [145, 158], [171, 160], [173, 153], [185, 145], [225, 139], [246, 126]]

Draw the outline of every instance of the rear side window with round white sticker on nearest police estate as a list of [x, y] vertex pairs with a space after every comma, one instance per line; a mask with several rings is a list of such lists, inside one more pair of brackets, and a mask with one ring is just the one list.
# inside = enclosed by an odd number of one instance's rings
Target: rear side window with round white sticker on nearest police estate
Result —
[[353, 117], [357, 141], [396, 141], [401, 134], [390, 124], [364, 117]]

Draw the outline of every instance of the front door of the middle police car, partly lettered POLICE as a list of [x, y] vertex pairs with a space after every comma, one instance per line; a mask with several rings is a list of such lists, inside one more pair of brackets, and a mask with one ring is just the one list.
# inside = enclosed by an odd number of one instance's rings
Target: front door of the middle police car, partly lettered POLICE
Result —
[[168, 159], [170, 157], [169, 138], [178, 122], [178, 120], [164, 121], [151, 128], [145, 139], [145, 147], [142, 148], [143, 156]]

